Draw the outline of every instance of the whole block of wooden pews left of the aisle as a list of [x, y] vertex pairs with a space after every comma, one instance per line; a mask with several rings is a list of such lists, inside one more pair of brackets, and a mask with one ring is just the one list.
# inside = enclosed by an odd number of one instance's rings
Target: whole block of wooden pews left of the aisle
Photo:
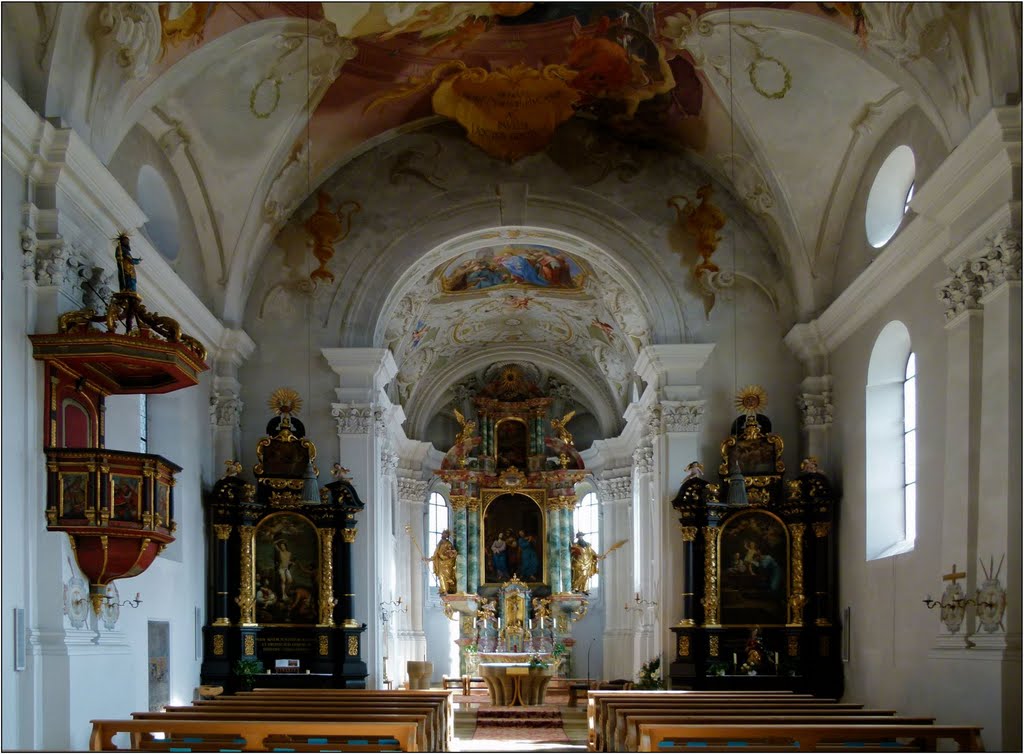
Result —
[[133, 750], [449, 751], [449, 692], [265, 689], [132, 720], [93, 720], [90, 748], [114, 750], [126, 732]]

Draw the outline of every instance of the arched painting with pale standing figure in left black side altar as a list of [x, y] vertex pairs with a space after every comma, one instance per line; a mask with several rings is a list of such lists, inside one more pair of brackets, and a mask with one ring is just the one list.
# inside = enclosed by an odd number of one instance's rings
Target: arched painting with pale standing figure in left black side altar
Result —
[[256, 529], [256, 621], [315, 624], [319, 616], [319, 536], [298, 513], [276, 513]]

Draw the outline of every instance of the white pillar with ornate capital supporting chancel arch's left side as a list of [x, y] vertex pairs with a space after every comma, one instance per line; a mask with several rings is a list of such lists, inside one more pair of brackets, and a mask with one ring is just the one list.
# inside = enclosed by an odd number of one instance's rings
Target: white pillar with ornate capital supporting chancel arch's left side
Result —
[[367, 687], [376, 688], [383, 670], [379, 605], [392, 561], [383, 553], [393, 551], [391, 513], [382, 505], [382, 501], [390, 502], [390, 483], [384, 478], [381, 454], [388, 439], [388, 414], [398, 408], [392, 407], [385, 388], [398, 370], [386, 348], [324, 348], [322, 352], [338, 375], [338, 403], [331, 405], [338, 423], [338, 457], [366, 504], [358, 518], [361, 536], [356, 536], [352, 549], [352, 568], [359, 569], [352, 585], [355, 620], [368, 626], [362, 655], [370, 673]]

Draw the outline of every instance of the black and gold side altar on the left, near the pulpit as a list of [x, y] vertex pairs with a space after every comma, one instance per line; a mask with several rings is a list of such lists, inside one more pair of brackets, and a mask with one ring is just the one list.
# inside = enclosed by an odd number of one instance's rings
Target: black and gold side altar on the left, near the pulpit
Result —
[[[256, 484], [227, 462], [207, 505], [210, 569], [203, 629], [204, 684], [366, 687], [353, 614], [352, 544], [364, 509], [343, 476], [317, 490], [316, 449], [287, 412], [256, 448]], [[265, 670], [245, 682], [240, 660]], [[293, 661], [281, 663], [276, 661]], [[280, 672], [278, 672], [280, 671]]]

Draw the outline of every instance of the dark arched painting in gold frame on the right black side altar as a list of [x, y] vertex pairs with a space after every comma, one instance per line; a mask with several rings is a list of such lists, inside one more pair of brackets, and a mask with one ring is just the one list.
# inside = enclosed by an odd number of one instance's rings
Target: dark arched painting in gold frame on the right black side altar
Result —
[[720, 539], [723, 625], [785, 625], [790, 589], [788, 533], [766, 511], [729, 518]]

